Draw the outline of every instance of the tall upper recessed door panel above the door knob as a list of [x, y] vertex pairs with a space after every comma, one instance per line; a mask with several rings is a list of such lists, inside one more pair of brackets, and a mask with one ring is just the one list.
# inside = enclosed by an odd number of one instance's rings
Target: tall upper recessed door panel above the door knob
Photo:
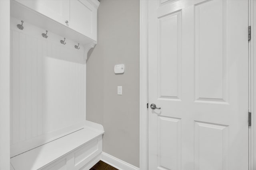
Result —
[[[158, 16], [158, 99], [160, 100], [180, 101], [181, 99], [181, 13], [182, 11], [178, 10]], [[165, 45], [168, 43], [172, 46]]]

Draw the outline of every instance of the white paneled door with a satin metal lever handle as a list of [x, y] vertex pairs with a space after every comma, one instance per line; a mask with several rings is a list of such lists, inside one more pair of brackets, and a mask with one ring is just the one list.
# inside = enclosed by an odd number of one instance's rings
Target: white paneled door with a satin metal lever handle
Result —
[[148, 59], [149, 170], [248, 170], [248, 0], [149, 0]]

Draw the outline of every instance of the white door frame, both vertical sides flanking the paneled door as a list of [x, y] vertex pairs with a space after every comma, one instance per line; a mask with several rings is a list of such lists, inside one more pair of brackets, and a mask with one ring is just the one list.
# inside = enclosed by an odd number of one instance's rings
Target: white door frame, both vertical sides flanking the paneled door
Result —
[[[148, 170], [148, 1], [140, 0], [140, 169]], [[252, 27], [249, 41], [249, 106], [252, 126], [249, 127], [249, 170], [256, 165], [256, 1], [248, 0], [248, 24]]]

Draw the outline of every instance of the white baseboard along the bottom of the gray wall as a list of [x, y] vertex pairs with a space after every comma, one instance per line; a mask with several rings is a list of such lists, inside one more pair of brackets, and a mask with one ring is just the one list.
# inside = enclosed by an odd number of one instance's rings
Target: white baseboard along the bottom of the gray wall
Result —
[[113, 166], [114, 168], [117, 168], [118, 170], [139, 170], [140, 169], [127, 162], [124, 162], [123, 160], [120, 160], [114, 156], [111, 156], [110, 154], [107, 154], [105, 152], [101, 153], [101, 160]]

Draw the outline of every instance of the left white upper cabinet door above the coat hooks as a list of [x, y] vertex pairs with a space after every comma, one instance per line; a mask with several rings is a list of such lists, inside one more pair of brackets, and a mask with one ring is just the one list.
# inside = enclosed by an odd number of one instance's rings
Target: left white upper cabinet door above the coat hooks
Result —
[[66, 25], [69, 21], [70, 0], [16, 0], [17, 2], [35, 10], [59, 23]]

